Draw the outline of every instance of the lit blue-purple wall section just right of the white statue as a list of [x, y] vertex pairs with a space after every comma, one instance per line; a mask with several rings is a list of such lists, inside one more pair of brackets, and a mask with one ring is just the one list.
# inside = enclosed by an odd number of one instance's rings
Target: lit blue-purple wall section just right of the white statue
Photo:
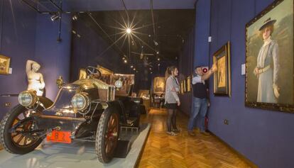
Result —
[[58, 21], [51, 21], [49, 15], [38, 14], [36, 27], [35, 60], [42, 66], [40, 72], [45, 80], [46, 97], [55, 99], [58, 87], [55, 82], [59, 76], [69, 82], [70, 76], [70, 42], [72, 17], [62, 15], [61, 39], [58, 38]]

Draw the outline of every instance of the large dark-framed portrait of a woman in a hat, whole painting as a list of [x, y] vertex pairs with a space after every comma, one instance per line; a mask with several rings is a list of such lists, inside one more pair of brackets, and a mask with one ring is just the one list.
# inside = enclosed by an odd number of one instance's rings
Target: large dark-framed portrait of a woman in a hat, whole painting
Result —
[[246, 24], [249, 107], [294, 112], [293, 0], [274, 1]]

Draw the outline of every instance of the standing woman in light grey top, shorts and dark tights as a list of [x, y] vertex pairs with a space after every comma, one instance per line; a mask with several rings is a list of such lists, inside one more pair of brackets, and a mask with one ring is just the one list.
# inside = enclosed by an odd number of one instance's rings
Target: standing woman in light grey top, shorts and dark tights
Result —
[[[178, 68], [175, 66], [168, 67], [165, 72], [165, 103], [168, 108], [167, 126], [168, 135], [177, 136], [179, 132], [175, 122], [177, 118], [177, 108], [180, 106], [180, 99], [178, 92], [180, 91], [179, 82], [176, 78], [178, 76]], [[173, 126], [173, 129], [172, 129]]]

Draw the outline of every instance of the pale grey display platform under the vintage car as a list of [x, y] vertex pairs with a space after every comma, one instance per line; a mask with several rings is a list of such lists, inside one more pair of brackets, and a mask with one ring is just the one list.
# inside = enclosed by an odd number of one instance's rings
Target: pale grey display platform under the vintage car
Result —
[[150, 128], [150, 123], [141, 125], [140, 133], [131, 137], [131, 150], [126, 158], [114, 158], [109, 164], [98, 161], [94, 142], [72, 142], [70, 145], [44, 142], [26, 155], [12, 155], [1, 150], [0, 168], [135, 167], [143, 152]]

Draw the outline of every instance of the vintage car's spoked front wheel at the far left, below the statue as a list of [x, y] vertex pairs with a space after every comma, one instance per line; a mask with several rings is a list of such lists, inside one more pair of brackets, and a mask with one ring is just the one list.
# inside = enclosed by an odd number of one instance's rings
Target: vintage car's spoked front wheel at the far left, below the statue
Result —
[[13, 154], [26, 154], [34, 150], [42, 138], [29, 132], [34, 129], [32, 111], [18, 105], [6, 113], [0, 124], [0, 143]]

